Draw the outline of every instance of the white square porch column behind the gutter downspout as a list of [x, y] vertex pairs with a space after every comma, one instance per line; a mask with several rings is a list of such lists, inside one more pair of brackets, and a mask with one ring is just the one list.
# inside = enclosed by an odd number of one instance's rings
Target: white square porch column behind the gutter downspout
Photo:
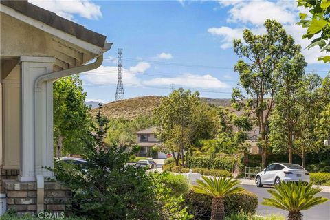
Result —
[[[53, 72], [55, 58], [21, 56], [21, 171], [20, 181], [36, 181], [36, 175], [51, 176], [42, 166], [53, 166], [52, 82], [34, 91], [36, 78]], [[36, 95], [35, 95], [36, 94]], [[40, 106], [35, 99], [42, 100]]]

